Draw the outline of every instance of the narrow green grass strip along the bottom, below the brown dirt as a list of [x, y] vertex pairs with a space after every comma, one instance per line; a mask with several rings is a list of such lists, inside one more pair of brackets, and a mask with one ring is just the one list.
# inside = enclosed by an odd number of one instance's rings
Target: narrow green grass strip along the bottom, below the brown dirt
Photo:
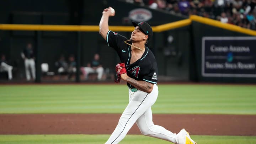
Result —
[[[0, 135], [1, 144], [104, 144], [110, 135]], [[255, 144], [255, 137], [192, 135], [198, 144]], [[127, 135], [119, 144], [170, 144], [143, 135]]]

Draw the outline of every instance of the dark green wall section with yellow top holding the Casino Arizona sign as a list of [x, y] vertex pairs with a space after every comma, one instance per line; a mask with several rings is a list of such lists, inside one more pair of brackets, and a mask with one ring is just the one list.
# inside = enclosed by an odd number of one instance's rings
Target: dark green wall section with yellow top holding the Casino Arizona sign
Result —
[[192, 80], [256, 82], [256, 31], [198, 16], [191, 19]]

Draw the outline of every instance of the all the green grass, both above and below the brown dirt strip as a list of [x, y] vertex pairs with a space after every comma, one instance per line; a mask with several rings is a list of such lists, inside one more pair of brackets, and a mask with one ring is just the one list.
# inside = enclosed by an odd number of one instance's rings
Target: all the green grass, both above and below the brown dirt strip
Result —
[[[122, 113], [126, 85], [1, 85], [0, 113]], [[256, 114], [254, 85], [159, 85], [153, 113]], [[0, 135], [1, 144], [102, 144], [109, 135]], [[256, 137], [192, 135], [198, 144], [256, 144]], [[167, 144], [127, 135], [121, 144]]]

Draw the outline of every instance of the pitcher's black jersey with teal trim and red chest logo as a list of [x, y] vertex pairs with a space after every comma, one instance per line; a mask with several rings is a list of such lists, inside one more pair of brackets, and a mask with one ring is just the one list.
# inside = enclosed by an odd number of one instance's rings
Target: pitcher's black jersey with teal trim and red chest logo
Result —
[[[128, 39], [118, 33], [108, 31], [107, 43], [108, 46], [116, 50], [122, 63], [126, 65], [127, 75], [135, 80], [144, 80], [153, 84], [158, 81], [158, 68], [154, 54], [148, 47], [145, 47], [145, 52], [140, 59], [130, 64], [131, 46], [124, 43]], [[135, 88], [129, 83], [128, 87]]]

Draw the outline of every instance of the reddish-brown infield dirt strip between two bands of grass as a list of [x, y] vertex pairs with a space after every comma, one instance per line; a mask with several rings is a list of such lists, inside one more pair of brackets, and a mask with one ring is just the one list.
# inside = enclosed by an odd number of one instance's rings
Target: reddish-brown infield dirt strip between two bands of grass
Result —
[[[0, 134], [111, 134], [121, 114], [0, 114]], [[173, 133], [256, 136], [256, 115], [153, 114]], [[140, 134], [136, 124], [128, 134]]]

